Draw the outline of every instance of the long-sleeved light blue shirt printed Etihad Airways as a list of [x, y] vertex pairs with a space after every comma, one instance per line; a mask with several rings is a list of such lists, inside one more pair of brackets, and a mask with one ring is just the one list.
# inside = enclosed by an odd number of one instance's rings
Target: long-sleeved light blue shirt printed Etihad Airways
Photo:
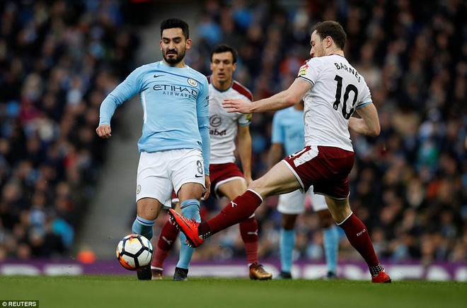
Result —
[[110, 125], [115, 109], [137, 93], [143, 107], [139, 152], [195, 148], [202, 151], [204, 171], [209, 174], [206, 76], [189, 66], [175, 68], [163, 61], [140, 66], [105, 97], [100, 105], [99, 125]]

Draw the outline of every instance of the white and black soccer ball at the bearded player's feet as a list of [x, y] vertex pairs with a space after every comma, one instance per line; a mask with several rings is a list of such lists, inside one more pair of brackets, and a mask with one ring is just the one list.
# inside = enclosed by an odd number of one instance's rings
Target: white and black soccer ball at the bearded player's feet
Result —
[[117, 259], [129, 271], [139, 271], [151, 263], [152, 245], [142, 235], [127, 235], [117, 245]]

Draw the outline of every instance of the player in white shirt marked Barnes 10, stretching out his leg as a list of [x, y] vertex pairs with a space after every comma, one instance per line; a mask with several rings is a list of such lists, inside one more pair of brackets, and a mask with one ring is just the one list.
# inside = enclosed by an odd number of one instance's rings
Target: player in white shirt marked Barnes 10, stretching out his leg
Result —
[[[325, 196], [335, 223], [367, 262], [371, 282], [391, 282], [379, 263], [367, 227], [352, 213], [349, 204], [348, 176], [354, 165], [349, 129], [378, 136], [380, 126], [367, 83], [345, 59], [346, 40], [339, 23], [317, 23], [310, 40], [312, 59], [301, 66], [287, 90], [253, 103], [224, 101], [229, 112], [250, 114], [284, 109], [304, 100], [305, 148], [278, 162], [210, 220], [195, 223], [169, 211], [192, 246], [199, 246], [210, 235], [245, 219], [267, 196], [296, 189], [306, 191], [313, 185], [315, 194]], [[361, 118], [352, 117], [354, 111]]]

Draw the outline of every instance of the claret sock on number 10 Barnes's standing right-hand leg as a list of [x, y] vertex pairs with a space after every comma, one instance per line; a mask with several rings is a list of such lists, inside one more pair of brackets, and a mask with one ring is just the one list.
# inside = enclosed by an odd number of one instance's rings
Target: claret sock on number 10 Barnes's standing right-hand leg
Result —
[[371, 244], [367, 227], [362, 223], [362, 220], [359, 220], [354, 213], [351, 213], [349, 217], [338, 225], [344, 230], [350, 244], [362, 255], [368, 266], [370, 268], [371, 266], [377, 266], [379, 260], [374, 252], [373, 244]]

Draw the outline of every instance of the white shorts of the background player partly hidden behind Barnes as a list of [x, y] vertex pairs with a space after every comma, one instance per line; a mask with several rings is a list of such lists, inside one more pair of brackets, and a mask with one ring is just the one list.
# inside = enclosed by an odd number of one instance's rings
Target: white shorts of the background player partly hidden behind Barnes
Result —
[[[313, 193], [313, 186], [310, 187], [306, 194], [308, 194], [311, 200], [313, 211], [318, 212], [328, 209], [324, 196]], [[279, 201], [277, 202], [277, 211], [279, 211], [279, 213], [292, 215], [304, 213], [306, 194], [303, 194], [300, 189], [297, 189], [288, 194], [280, 195]]]

